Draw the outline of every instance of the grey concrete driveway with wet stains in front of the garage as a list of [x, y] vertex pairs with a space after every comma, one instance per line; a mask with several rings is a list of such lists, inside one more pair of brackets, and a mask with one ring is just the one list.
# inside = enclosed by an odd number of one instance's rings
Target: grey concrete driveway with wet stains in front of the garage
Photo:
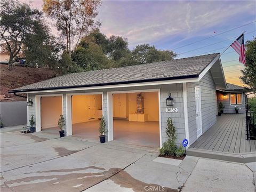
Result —
[[174, 166], [153, 161], [157, 156], [118, 141], [5, 132], [1, 191], [255, 191], [254, 163], [187, 156]]

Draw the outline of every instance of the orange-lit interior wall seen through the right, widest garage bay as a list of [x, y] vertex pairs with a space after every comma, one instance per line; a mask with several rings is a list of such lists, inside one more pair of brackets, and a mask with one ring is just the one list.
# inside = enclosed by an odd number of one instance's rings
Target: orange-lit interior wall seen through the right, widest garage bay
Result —
[[[136, 113], [136, 99], [138, 93], [127, 93], [129, 114]], [[148, 121], [159, 121], [158, 92], [142, 93], [144, 100], [144, 113], [148, 115]]]

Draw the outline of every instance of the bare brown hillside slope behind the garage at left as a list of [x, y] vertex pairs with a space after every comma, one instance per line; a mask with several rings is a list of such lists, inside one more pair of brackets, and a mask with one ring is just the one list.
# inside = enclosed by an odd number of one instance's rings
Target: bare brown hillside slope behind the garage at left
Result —
[[[8, 70], [7, 65], [1, 67], [1, 101], [23, 101], [26, 98], [14, 96], [8, 93], [9, 90], [20, 86], [28, 85], [53, 78], [53, 71], [49, 68], [29, 68], [13, 66], [12, 70]], [[26, 96], [26, 94], [25, 94]]]

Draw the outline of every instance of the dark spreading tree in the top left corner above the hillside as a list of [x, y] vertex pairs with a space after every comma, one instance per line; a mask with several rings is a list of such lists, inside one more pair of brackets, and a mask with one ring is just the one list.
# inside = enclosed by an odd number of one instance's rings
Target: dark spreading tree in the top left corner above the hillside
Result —
[[6, 43], [10, 55], [8, 69], [12, 70], [27, 35], [33, 34], [35, 26], [38, 26], [42, 12], [13, 0], [1, 1], [0, 6], [1, 39]]

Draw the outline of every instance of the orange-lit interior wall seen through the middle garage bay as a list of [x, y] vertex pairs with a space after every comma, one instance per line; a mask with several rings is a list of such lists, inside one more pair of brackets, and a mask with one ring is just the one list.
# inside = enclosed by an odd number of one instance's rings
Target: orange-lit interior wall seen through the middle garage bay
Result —
[[96, 117], [97, 110], [101, 109], [101, 95], [73, 95], [72, 123], [94, 121], [95, 119], [98, 119]]

